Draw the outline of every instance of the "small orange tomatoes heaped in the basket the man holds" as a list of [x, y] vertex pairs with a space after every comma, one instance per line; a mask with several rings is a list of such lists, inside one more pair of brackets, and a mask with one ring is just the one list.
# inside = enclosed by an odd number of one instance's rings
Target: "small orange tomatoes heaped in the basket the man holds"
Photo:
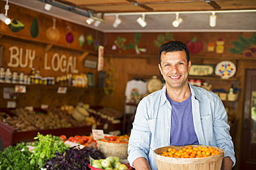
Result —
[[220, 151], [214, 149], [213, 147], [183, 147], [182, 149], [174, 149], [169, 147], [167, 151], [163, 151], [161, 156], [166, 156], [170, 158], [205, 158], [208, 156], [216, 156]]

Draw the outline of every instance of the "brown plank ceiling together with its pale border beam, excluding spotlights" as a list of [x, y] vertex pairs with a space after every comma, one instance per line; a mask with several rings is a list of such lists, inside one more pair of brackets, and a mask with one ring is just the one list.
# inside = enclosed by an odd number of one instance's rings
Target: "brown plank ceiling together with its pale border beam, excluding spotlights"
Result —
[[[3, 0], [6, 1], [6, 0]], [[59, 17], [102, 32], [256, 32], [256, 0], [9, 0], [18, 6]], [[53, 4], [50, 11], [46, 3]], [[62, 8], [54, 6], [59, 3]], [[88, 25], [88, 16], [103, 19], [100, 25]], [[172, 26], [176, 13], [183, 19]], [[217, 24], [210, 27], [209, 17], [215, 12]], [[145, 14], [147, 25], [136, 20]], [[91, 16], [91, 15], [90, 15]], [[114, 28], [119, 18], [121, 23]], [[94, 21], [95, 23], [95, 21]]]

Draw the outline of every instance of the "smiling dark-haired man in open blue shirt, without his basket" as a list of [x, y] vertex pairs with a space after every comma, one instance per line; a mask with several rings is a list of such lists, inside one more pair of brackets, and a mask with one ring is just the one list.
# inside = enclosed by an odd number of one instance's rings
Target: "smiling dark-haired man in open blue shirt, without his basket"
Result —
[[129, 138], [128, 160], [136, 170], [156, 170], [154, 149], [210, 145], [224, 149], [222, 170], [235, 165], [228, 115], [214, 93], [188, 83], [191, 61], [181, 41], [161, 46], [158, 67], [165, 86], [140, 101]]

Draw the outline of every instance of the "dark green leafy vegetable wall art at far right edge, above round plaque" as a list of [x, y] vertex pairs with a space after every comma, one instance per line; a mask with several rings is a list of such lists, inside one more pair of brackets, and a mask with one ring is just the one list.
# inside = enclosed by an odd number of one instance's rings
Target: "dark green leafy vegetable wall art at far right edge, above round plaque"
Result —
[[253, 37], [248, 39], [239, 35], [237, 41], [233, 41], [232, 45], [235, 47], [230, 47], [228, 50], [232, 54], [241, 54], [245, 52], [245, 56], [252, 56], [256, 52], [256, 33], [253, 34]]

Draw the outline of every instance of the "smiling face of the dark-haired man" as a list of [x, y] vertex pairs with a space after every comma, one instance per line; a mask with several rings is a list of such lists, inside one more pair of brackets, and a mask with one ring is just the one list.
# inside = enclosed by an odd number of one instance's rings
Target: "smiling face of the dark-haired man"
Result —
[[188, 72], [191, 61], [187, 61], [185, 51], [162, 52], [159, 70], [165, 79], [167, 88], [182, 88], [188, 85]]

